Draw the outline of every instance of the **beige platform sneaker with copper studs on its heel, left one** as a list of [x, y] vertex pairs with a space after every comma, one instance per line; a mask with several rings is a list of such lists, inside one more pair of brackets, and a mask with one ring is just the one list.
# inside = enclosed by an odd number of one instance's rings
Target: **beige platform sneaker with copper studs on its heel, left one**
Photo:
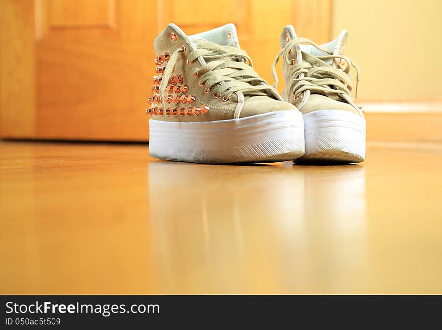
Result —
[[195, 163], [277, 162], [304, 154], [302, 114], [260, 78], [235, 25], [154, 42], [150, 155]]

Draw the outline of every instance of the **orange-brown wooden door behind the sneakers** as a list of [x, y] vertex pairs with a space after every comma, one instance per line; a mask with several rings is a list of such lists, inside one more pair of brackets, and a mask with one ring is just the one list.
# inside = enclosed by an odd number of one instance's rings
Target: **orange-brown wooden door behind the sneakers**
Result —
[[[232, 22], [270, 83], [286, 24], [326, 41], [330, 0], [2, 0], [0, 136], [147, 141], [153, 40]], [[281, 87], [281, 86], [280, 86]]]

